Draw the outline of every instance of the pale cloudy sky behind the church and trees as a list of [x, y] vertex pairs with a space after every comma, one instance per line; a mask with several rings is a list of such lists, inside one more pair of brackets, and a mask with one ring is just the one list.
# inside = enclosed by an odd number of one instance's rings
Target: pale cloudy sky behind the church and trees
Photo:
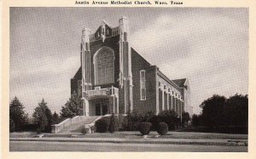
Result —
[[44, 98], [60, 112], [80, 66], [84, 27], [129, 18], [131, 47], [170, 79], [188, 78], [193, 112], [212, 94], [248, 94], [248, 9], [11, 8], [10, 100], [31, 116]]

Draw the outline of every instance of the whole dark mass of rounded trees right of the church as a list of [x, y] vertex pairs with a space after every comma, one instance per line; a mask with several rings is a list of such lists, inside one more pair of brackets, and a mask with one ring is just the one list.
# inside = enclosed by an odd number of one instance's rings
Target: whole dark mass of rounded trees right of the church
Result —
[[237, 128], [236, 133], [240, 132], [240, 128], [247, 128], [247, 95], [235, 94], [230, 96], [229, 99], [226, 99], [224, 96], [213, 95], [202, 102], [200, 106], [202, 108], [201, 116], [193, 116], [193, 125], [202, 124], [216, 129], [219, 126]]

